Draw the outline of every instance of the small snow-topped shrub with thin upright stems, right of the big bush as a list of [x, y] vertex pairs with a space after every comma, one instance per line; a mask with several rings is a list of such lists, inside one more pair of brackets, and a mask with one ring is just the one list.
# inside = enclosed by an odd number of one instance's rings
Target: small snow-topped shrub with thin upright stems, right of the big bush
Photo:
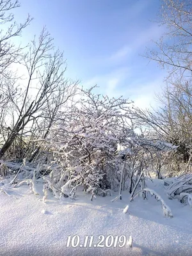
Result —
[[[134, 136], [129, 139], [129, 148], [126, 159], [127, 180], [129, 193], [134, 195], [136, 189], [146, 188], [146, 179], [150, 178], [149, 171], [154, 167], [156, 156], [163, 156], [174, 150], [174, 147], [166, 141], [152, 140], [145, 136]], [[161, 172], [157, 172], [160, 177]], [[143, 192], [143, 198], [146, 193]]]

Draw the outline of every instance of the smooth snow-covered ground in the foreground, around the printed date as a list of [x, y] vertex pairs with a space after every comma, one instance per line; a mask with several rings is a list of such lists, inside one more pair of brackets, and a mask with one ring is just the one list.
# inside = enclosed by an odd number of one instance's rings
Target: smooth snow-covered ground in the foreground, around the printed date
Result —
[[[148, 182], [172, 209], [173, 218], [165, 218], [161, 204], [154, 197], [136, 197], [129, 193], [111, 202], [116, 194], [97, 197], [78, 194], [76, 200], [54, 198], [42, 202], [40, 195], [29, 193], [28, 185], [7, 188], [12, 195], [0, 193], [0, 255], [192, 255], [192, 209], [178, 200], [168, 200], [163, 180]], [[0, 188], [2, 188], [0, 184]], [[127, 213], [124, 211], [129, 204]], [[132, 236], [132, 248], [69, 248], [67, 236]]]

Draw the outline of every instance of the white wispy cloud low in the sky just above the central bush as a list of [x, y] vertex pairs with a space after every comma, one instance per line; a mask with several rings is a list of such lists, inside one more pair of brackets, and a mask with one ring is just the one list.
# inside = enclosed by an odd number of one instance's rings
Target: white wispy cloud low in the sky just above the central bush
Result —
[[[148, 80], [146, 77], [132, 82], [130, 81], [129, 68], [115, 70], [113, 73], [103, 76], [95, 76], [86, 81], [84, 86], [99, 86], [99, 93], [107, 94], [109, 97], [120, 97], [134, 101], [134, 106], [139, 108], [154, 108], [158, 105], [156, 95], [163, 87], [163, 76]], [[130, 70], [129, 70], [130, 71]]]

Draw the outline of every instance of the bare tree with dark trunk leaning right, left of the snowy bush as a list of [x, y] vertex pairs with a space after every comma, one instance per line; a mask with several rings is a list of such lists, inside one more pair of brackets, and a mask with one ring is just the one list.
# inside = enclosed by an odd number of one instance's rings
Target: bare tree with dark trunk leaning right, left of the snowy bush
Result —
[[[15, 118], [11, 132], [0, 150], [0, 157], [4, 156], [20, 132], [31, 131], [30, 125], [34, 124], [33, 121], [38, 122], [40, 118], [45, 120], [48, 118], [48, 132], [58, 109], [76, 91], [77, 83], [69, 83], [64, 77], [63, 53], [53, 50], [52, 38], [43, 29], [38, 40], [35, 38], [31, 42], [29, 51], [20, 60], [22, 68], [26, 68], [27, 78], [19, 81], [23, 83], [19, 97], [13, 99], [12, 95], [8, 95], [12, 99], [12, 104], [15, 107], [14, 115], [17, 118]], [[6, 84], [8, 92], [12, 86], [17, 87], [17, 84]], [[44, 137], [46, 134], [45, 132]]]

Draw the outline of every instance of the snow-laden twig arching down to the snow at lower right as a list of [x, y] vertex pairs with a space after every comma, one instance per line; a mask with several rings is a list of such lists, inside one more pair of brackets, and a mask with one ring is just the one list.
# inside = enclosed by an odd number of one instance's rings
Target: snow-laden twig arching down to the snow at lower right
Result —
[[156, 191], [154, 191], [153, 189], [150, 189], [150, 188], [141, 189], [134, 196], [131, 197], [131, 201], [133, 200], [133, 198], [136, 195], [138, 195], [139, 193], [141, 193], [143, 191], [149, 192], [152, 196], [154, 195], [156, 200], [161, 202], [161, 206], [163, 208], [163, 213], [164, 213], [165, 217], [173, 218], [173, 214], [172, 214], [172, 211], [171, 211], [170, 207], [168, 207], [168, 205], [166, 205], [166, 203], [164, 202], [163, 198], [161, 198], [161, 196], [159, 194], [157, 194]]

